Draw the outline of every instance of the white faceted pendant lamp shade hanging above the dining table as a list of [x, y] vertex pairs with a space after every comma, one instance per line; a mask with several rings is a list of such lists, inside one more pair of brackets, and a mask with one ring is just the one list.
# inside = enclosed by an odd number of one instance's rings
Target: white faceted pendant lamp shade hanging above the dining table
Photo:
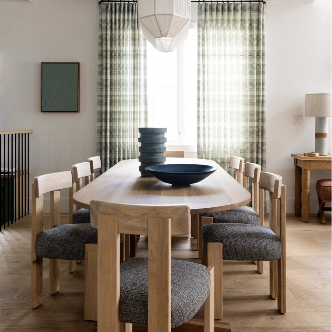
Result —
[[161, 52], [171, 52], [188, 37], [191, 0], [139, 0], [138, 21], [145, 38]]

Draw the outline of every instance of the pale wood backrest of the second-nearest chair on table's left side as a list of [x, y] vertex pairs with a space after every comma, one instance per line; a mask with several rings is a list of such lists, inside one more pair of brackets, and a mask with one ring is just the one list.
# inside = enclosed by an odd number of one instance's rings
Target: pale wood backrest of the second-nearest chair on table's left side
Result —
[[69, 223], [73, 220], [73, 212], [79, 209], [79, 206], [73, 203], [73, 195], [83, 187], [83, 178], [85, 178], [85, 185], [89, 184], [91, 177], [90, 162], [74, 164], [71, 166], [73, 184], [69, 189]]

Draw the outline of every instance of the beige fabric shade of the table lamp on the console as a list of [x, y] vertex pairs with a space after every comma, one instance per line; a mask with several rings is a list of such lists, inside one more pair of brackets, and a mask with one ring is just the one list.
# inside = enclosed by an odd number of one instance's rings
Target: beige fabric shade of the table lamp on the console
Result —
[[331, 116], [331, 94], [313, 93], [305, 95], [306, 117], [330, 117]]

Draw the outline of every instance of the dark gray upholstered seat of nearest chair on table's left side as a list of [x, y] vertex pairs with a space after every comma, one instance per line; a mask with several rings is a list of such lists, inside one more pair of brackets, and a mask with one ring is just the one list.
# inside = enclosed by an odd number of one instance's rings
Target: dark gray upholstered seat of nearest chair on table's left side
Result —
[[90, 224], [58, 225], [36, 239], [36, 254], [51, 259], [84, 261], [84, 245], [97, 243], [97, 229]]

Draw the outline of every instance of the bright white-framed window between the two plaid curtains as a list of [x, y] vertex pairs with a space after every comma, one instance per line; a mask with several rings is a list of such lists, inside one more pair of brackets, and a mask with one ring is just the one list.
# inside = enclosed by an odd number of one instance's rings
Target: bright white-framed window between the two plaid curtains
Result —
[[197, 29], [175, 51], [147, 43], [148, 126], [167, 127], [167, 143], [197, 142]]

